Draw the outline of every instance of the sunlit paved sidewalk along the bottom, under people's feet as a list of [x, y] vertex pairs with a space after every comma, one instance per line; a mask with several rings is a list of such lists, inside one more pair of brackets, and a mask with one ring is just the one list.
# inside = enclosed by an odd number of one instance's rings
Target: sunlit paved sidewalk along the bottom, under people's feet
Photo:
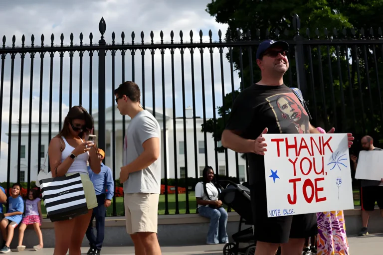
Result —
[[[366, 237], [349, 237], [350, 254], [352, 255], [382, 255], [383, 234], [368, 235]], [[163, 255], [218, 255], [222, 254], [223, 245], [162, 247]], [[86, 254], [88, 248], [83, 248], [82, 254]], [[26, 250], [17, 255], [52, 255], [53, 249], [43, 249], [35, 252]], [[105, 247], [102, 255], [134, 255], [133, 247]]]

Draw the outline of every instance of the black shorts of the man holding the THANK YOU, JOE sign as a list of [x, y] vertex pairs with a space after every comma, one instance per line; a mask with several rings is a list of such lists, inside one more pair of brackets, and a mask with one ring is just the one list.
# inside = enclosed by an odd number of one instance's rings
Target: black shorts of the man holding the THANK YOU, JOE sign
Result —
[[250, 187], [255, 241], [286, 244], [289, 238], [308, 238], [318, 233], [317, 215], [267, 217], [266, 184]]

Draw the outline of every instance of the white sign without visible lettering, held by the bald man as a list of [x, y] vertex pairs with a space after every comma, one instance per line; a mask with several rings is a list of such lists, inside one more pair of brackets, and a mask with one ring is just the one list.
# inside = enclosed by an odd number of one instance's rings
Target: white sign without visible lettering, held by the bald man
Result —
[[359, 152], [355, 178], [380, 181], [383, 178], [383, 150]]

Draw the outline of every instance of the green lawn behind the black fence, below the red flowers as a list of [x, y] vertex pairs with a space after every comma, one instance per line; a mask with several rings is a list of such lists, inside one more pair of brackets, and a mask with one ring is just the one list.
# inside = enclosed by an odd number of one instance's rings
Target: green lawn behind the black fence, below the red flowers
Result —
[[[359, 190], [354, 190], [354, 206], [360, 206], [360, 200], [359, 200]], [[179, 194], [178, 195], [178, 205], [179, 205], [179, 213], [185, 214], [186, 213], [186, 194]], [[196, 202], [195, 202], [195, 195], [194, 191], [189, 193], [189, 212], [195, 213], [196, 208]], [[168, 210], [169, 214], [176, 214], [176, 195], [175, 194], [169, 194], [168, 195]], [[43, 217], [46, 218], [46, 210], [44, 203], [41, 203], [41, 211], [43, 214]], [[123, 197], [117, 197], [116, 198], [116, 212], [117, 216], [123, 216], [124, 215], [124, 199]], [[113, 200], [112, 205], [107, 209], [107, 216], [113, 216]], [[160, 201], [158, 205], [158, 214], [164, 215], [165, 214], [165, 195], [160, 195]]]

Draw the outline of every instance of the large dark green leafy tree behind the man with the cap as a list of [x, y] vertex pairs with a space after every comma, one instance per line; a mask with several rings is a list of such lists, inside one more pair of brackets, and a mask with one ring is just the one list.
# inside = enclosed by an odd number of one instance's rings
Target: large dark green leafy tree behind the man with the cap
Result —
[[[226, 41], [266, 38], [292, 41], [297, 34], [292, 23], [292, 17], [295, 14], [300, 17], [300, 34], [306, 39], [328, 39], [331, 36], [346, 38], [363, 33], [363, 30], [357, 30], [354, 33], [355, 30], [350, 29], [354, 27], [372, 27], [377, 34], [383, 19], [379, 14], [381, 10], [383, 10], [383, 1], [380, 0], [212, 0], [206, 8], [206, 11], [214, 16], [217, 22], [228, 25], [225, 33]], [[342, 33], [343, 29], [347, 29], [346, 35]], [[365, 33], [365, 36], [367, 34]], [[362, 37], [363, 35], [361, 35]], [[242, 56], [248, 56], [249, 49], [250, 47], [243, 47]], [[305, 68], [309, 88], [306, 100], [310, 103], [309, 109], [314, 118], [314, 124], [324, 128], [336, 126], [338, 130], [357, 132], [357, 136], [370, 133], [377, 138], [383, 138], [380, 132], [382, 108], [377, 79], [378, 77], [382, 80], [383, 75], [378, 72], [377, 76], [375, 70], [375, 64], [377, 64], [378, 70], [383, 70], [382, 52], [380, 47], [374, 47], [377, 56], [377, 63], [375, 63], [372, 49], [373, 47], [367, 47], [364, 51], [363, 47], [352, 47], [351, 44], [348, 45], [348, 48], [338, 47], [338, 51], [333, 46], [313, 45], [310, 49], [305, 48], [309, 53], [305, 53], [305, 57], [307, 58], [309, 55], [312, 57], [312, 66], [310, 67], [309, 60], [306, 59]], [[251, 84], [251, 73], [254, 77], [253, 82], [260, 79], [260, 72], [255, 60], [256, 48], [252, 47], [251, 50], [252, 70], [247, 57], [243, 57], [243, 68], [240, 68], [238, 48], [233, 48], [232, 53], [234, 68], [239, 72], [239, 77], [243, 77], [242, 86], [244, 88]], [[321, 50], [320, 55], [319, 50]], [[349, 61], [347, 61], [346, 52], [349, 54]], [[339, 53], [341, 71], [338, 68], [337, 53]], [[285, 82], [291, 87], [297, 87], [294, 52], [290, 50], [289, 54], [290, 68]], [[358, 56], [358, 62], [356, 56]], [[228, 60], [229, 57], [227, 54]], [[367, 65], [369, 70], [366, 71]], [[320, 67], [323, 70], [322, 73], [318, 71]], [[357, 67], [359, 67], [359, 71]], [[360, 73], [359, 78], [358, 72]], [[235, 91], [234, 96], [238, 93], [239, 91]], [[344, 96], [342, 97], [342, 95]], [[372, 100], [369, 95], [372, 95]], [[202, 131], [212, 133], [216, 141], [221, 138], [224, 129], [223, 119], [228, 118], [233, 103], [232, 99], [232, 93], [226, 94], [224, 97], [225, 111], [222, 107], [218, 107], [219, 117], [215, 123], [214, 120], [209, 120], [202, 125]], [[363, 108], [361, 107], [362, 102], [364, 102]], [[355, 109], [355, 114], [353, 109]], [[222, 150], [222, 148], [218, 149]]]

